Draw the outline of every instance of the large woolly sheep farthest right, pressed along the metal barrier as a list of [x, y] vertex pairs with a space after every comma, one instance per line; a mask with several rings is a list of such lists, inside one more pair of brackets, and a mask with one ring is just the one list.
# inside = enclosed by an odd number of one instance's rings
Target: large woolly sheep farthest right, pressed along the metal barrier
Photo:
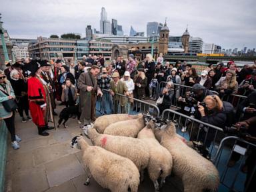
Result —
[[182, 179], [185, 192], [217, 191], [219, 173], [216, 167], [177, 137], [173, 123], [167, 122], [161, 129], [154, 129], [154, 133], [161, 135], [161, 145], [171, 153], [173, 173]]

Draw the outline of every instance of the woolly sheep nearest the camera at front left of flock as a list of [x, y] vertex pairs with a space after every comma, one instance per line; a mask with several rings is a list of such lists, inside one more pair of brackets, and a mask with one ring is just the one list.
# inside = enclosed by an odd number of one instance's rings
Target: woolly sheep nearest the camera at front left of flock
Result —
[[89, 185], [90, 178], [93, 176], [101, 187], [113, 192], [138, 190], [139, 170], [130, 159], [101, 147], [90, 146], [81, 136], [72, 139], [71, 147], [77, 147], [83, 151], [83, 163], [88, 173], [85, 185]]

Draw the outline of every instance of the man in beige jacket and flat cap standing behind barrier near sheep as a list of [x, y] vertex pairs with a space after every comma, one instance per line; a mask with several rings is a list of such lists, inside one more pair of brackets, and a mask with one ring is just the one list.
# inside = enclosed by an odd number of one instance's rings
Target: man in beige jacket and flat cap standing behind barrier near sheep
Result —
[[110, 93], [113, 96], [114, 101], [114, 113], [118, 112], [118, 105], [121, 106], [121, 113], [127, 113], [126, 105], [127, 105], [127, 98], [116, 95], [115, 93], [119, 93], [122, 95], [129, 95], [127, 85], [124, 81], [120, 81], [120, 76], [118, 72], [113, 73], [112, 81], [110, 81]]

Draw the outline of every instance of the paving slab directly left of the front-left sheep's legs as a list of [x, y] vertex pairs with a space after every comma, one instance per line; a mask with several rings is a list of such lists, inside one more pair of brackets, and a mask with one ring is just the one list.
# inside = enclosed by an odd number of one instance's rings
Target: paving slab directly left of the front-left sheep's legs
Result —
[[75, 155], [61, 157], [60, 159], [46, 163], [45, 169], [50, 187], [60, 185], [65, 181], [69, 181], [85, 173], [83, 166]]

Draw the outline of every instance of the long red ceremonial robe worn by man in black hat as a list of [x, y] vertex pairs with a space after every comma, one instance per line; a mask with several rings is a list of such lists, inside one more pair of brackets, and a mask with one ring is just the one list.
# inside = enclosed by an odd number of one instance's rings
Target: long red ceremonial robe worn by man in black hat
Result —
[[[31, 117], [33, 123], [38, 127], [43, 127], [47, 125], [45, 122], [47, 118], [46, 113], [49, 110], [43, 111], [41, 105], [48, 104], [47, 98], [49, 98], [49, 93], [47, 92], [47, 87], [43, 85], [39, 77], [31, 77], [27, 80], [28, 85], [28, 96], [29, 96], [29, 110], [31, 112]], [[46, 88], [46, 89], [45, 89]], [[47, 95], [48, 94], [48, 95]], [[47, 107], [47, 105], [45, 106]]]

